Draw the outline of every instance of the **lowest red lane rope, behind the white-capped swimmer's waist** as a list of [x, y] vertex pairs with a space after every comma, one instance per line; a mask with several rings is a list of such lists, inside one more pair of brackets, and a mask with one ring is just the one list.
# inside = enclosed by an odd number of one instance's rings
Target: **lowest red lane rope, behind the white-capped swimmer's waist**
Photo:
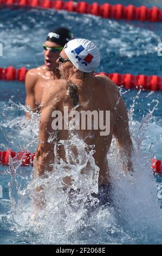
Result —
[[[10, 157], [14, 159], [15, 162], [21, 161], [21, 166], [33, 166], [35, 153], [30, 153], [28, 151], [19, 151], [16, 153], [11, 149], [7, 149], [7, 151], [0, 151], [0, 164], [9, 165]], [[154, 173], [162, 174], [161, 161], [156, 160], [155, 157], [152, 159], [151, 167]]]

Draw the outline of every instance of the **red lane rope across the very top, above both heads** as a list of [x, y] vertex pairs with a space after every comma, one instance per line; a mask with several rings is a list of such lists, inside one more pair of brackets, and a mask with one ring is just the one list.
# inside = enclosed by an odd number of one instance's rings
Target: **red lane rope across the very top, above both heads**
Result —
[[116, 20], [139, 20], [139, 21], [150, 21], [150, 22], [161, 22], [162, 21], [162, 9], [157, 7], [147, 8], [144, 5], [141, 7], [135, 7], [132, 4], [126, 7], [122, 4], [109, 4], [103, 3], [98, 4], [96, 2], [89, 4], [87, 2], [75, 2], [68, 1], [64, 2], [61, 0], [50, 1], [50, 0], [0, 0], [1, 7], [30, 7], [30, 8], [42, 8], [42, 9], [55, 9], [55, 10], [66, 10], [70, 12], [80, 14], [91, 14], [95, 16], [101, 16], [105, 19], [116, 19]]

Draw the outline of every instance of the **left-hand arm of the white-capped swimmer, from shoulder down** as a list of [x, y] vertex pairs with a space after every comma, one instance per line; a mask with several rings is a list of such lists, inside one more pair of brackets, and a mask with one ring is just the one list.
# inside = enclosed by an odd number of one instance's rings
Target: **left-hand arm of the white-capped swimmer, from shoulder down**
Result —
[[[41, 176], [46, 170], [51, 171], [53, 169], [49, 164], [54, 163], [54, 145], [59, 138], [59, 132], [52, 127], [54, 120], [52, 113], [57, 109], [57, 102], [60, 101], [61, 97], [61, 84], [59, 82], [58, 80], [51, 80], [44, 84], [41, 102], [39, 142], [35, 158], [35, 176]], [[53, 138], [53, 140], [51, 141], [49, 137]]]

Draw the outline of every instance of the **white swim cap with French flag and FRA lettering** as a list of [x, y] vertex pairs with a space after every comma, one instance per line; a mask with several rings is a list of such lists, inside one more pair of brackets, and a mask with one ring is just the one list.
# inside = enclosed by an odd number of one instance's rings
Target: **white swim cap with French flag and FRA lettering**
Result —
[[94, 42], [87, 39], [73, 39], [64, 46], [64, 52], [73, 65], [83, 71], [92, 72], [100, 65], [100, 52]]

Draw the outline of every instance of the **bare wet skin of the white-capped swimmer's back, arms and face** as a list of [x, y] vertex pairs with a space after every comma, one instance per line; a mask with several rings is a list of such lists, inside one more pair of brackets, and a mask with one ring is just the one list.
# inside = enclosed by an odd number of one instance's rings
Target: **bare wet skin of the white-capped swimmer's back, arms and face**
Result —
[[[60, 53], [60, 56], [64, 59], [68, 58], [64, 50]], [[45, 170], [52, 170], [49, 164], [55, 161], [53, 153], [54, 143], [48, 142], [48, 138], [49, 133], [54, 134], [55, 132], [51, 127], [51, 123], [54, 119], [51, 117], [51, 114], [54, 110], [59, 110], [63, 114], [64, 106], [68, 106], [69, 111], [74, 108], [74, 99], [69, 95], [67, 85], [75, 84], [77, 86], [77, 95], [79, 95], [77, 111], [111, 111], [111, 129], [108, 136], [101, 136], [100, 130], [75, 131], [79, 138], [83, 139], [88, 145], [95, 145], [95, 154], [93, 156], [95, 164], [100, 168], [99, 184], [108, 184], [109, 172], [107, 153], [111, 146], [113, 135], [116, 137], [119, 147], [125, 152], [128, 159], [127, 170], [132, 169], [130, 161], [132, 141], [129, 135], [125, 102], [122, 97], [120, 97], [116, 85], [105, 75], [94, 76], [92, 72], [85, 76], [83, 72], [77, 70], [70, 62], [60, 64], [59, 69], [63, 79], [47, 82], [43, 91], [43, 107], [39, 133], [40, 142], [36, 152], [35, 175], [40, 176], [44, 174]], [[69, 133], [67, 130], [59, 130], [55, 143], [60, 139], [68, 139], [68, 136]], [[63, 147], [58, 148], [58, 155], [66, 161]], [[82, 170], [82, 173], [87, 172], [88, 168], [89, 163], [85, 169]]]

